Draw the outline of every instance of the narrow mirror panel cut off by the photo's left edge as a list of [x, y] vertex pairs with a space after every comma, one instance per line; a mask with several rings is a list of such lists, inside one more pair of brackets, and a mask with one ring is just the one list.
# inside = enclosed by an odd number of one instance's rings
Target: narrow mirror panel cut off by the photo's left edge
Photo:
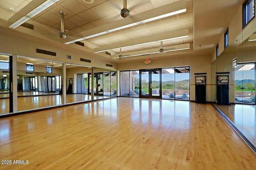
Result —
[[0, 114], [9, 112], [9, 55], [0, 54]]

